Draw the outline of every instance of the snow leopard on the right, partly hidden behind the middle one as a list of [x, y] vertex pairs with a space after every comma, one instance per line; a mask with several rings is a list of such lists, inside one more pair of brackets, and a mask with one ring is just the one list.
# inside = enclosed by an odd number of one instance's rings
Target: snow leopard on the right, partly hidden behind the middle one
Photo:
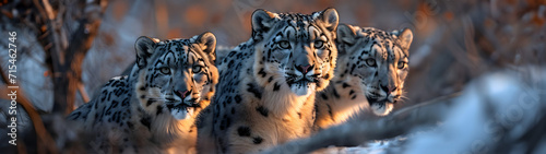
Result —
[[341, 24], [335, 78], [317, 96], [318, 128], [341, 123], [360, 112], [388, 115], [403, 94], [412, 39], [407, 28], [384, 32]]

